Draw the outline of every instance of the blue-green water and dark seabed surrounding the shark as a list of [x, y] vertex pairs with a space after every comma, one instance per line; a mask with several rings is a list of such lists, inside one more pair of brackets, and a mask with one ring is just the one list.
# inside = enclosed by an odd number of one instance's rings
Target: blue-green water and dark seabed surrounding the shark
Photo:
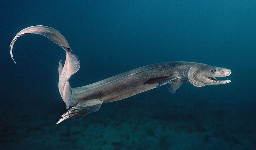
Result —
[[[1, 1], [1, 150], [256, 149], [256, 1]], [[232, 82], [166, 86], [104, 103], [56, 125], [65, 52], [44, 36], [9, 43], [23, 28], [60, 31], [81, 67], [71, 87], [141, 66], [192, 61], [225, 67]]]

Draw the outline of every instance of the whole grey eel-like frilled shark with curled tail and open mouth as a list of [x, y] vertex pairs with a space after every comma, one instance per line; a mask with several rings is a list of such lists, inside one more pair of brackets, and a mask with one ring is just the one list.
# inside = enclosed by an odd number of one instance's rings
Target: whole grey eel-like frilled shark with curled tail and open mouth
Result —
[[14, 42], [27, 34], [44, 35], [60, 45], [67, 54], [64, 67], [62, 61], [59, 63], [59, 91], [67, 108], [71, 108], [62, 115], [57, 124], [71, 117], [80, 119], [88, 113], [96, 112], [102, 103], [122, 100], [165, 84], [174, 93], [183, 82], [190, 82], [197, 87], [231, 82], [216, 79], [230, 75], [230, 69], [178, 61], [140, 67], [90, 85], [71, 88], [69, 78], [80, 68], [80, 60], [73, 54], [64, 36], [54, 28], [31, 26], [17, 33], [10, 43], [11, 58]]

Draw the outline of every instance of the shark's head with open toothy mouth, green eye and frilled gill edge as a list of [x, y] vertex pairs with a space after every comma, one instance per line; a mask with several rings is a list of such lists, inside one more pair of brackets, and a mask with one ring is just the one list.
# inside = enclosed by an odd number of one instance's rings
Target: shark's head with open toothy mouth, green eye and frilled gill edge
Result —
[[188, 79], [197, 87], [230, 83], [230, 80], [217, 80], [216, 77], [225, 77], [231, 74], [230, 69], [214, 67], [205, 64], [196, 64], [189, 69]]

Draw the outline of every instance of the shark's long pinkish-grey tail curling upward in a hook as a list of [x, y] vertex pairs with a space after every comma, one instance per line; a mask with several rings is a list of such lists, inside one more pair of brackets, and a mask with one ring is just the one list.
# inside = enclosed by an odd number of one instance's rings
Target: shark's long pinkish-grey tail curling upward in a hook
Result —
[[62, 49], [65, 50], [67, 56], [64, 66], [62, 67], [62, 61], [60, 61], [59, 63], [59, 91], [61, 94], [61, 98], [67, 105], [67, 108], [76, 105], [76, 103], [71, 102], [72, 90], [69, 84], [69, 78], [71, 77], [71, 75], [73, 75], [79, 70], [80, 60], [70, 49], [68, 41], [59, 31], [48, 26], [37, 25], [24, 28], [23, 30], [16, 34], [13, 41], [11, 41], [10, 43], [10, 55], [15, 64], [16, 62], [13, 58], [13, 45], [18, 38], [28, 34], [43, 35], [46, 38], [53, 41], [54, 43], [58, 44], [60, 47], [62, 47]]

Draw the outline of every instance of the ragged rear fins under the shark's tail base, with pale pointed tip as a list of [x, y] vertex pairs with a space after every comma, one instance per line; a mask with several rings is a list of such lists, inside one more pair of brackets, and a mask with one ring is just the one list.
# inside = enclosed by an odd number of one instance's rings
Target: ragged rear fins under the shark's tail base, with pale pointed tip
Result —
[[98, 99], [80, 101], [76, 106], [71, 107], [63, 114], [57, 124], [71, 117], [81, 119], [89, 113], [94, 113], [100, 109], [102, 102], [103, 101]]

